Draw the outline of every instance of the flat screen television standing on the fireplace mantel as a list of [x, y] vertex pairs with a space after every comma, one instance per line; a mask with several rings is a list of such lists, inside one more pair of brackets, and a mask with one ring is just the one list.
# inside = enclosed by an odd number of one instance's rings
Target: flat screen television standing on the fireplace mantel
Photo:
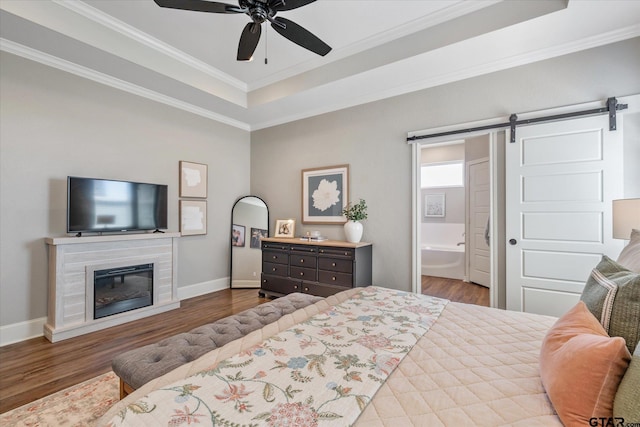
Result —
[[67, 177], [67, 233], [166, 228], [166, 185]]

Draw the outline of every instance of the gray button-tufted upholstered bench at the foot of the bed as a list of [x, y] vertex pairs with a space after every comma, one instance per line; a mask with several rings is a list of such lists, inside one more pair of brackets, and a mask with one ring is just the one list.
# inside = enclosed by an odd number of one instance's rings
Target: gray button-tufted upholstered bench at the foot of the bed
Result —
[[121, 354], [111, 363], [113, 372], [120, 377], [120, 398], [180, 365], [321, 299], [303, 293], [288, 294], [189, 332]]

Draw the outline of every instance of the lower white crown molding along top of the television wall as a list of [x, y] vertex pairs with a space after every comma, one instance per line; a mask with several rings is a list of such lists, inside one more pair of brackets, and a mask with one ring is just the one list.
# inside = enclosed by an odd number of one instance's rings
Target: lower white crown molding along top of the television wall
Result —
[[143, 98], [156, 101], [161, 104], [169, 105], [171, 107], [175, 107], [180, 110], [187, 111], [189, 113], [193, 113], [201, 117], [205, 117], [207, 119], [215, 120], [217, 122], [236, 127], [238, 129], [242, 129], [245, 131], [251, 130], [248, 123], [244, 123], [239, 120], [232, 119], [230, 117], [215, 113], [205, 108], [197, 107], [193, 104], [180, 101], [178, 99], [160, 94], [158, 92], [155, 92], [149, 89], [145, 89], [141, 86], [134, 85], [132, 83], [109, 76], [99, 71], [92, 70], [90, 68], [83, 67], [82, 65], [74, 64], [72, 62], [55, 57], [53, 55], [49, 55], [47, 53], [40, 52], [36, 49], [23, 46], [19, 43], [12, 42], [11, 40], [0, 38], [0, 50], [2, 50], [3, 52], [20, 56], [25, 59], [29, 59], [31, 61], [38, 62], [43, 65], [47, 65], [52, 68], [56, 68], [61, 71], [66, 71], [76, 76], [83, 77], [85, 79], [88, 79], [97, 83], [101, 83], [103, 85], [110, 86], [112, 88], [119, 89], [124, 92], [131, 93], [133, 95], [141, 96]]

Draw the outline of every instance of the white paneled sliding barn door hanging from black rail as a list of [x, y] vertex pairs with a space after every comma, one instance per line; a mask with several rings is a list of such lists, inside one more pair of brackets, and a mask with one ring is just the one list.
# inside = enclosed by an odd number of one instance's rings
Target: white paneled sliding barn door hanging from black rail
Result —
[[606, 115], [516, 129], [506, 142], [507, 309], [560, 316], [575, 305], [611, 236], [623, 195], [622, 120]]

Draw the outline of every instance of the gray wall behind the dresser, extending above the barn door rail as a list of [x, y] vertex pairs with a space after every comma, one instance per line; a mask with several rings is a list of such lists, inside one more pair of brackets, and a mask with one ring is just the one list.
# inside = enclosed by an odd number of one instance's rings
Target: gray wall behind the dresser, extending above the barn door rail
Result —
[[[369, 206], [363, 240], [373, 243], [374, 283], [410, 290], [406, 133], [640, 93], [638, 52], [635, 38], [253, 132], [252, 192], [267, 201], [273, 221], [299, 221], [300, 170], [350, 164], [351, 198]], [[339, 226], [322, 230], [343, 238]]]

